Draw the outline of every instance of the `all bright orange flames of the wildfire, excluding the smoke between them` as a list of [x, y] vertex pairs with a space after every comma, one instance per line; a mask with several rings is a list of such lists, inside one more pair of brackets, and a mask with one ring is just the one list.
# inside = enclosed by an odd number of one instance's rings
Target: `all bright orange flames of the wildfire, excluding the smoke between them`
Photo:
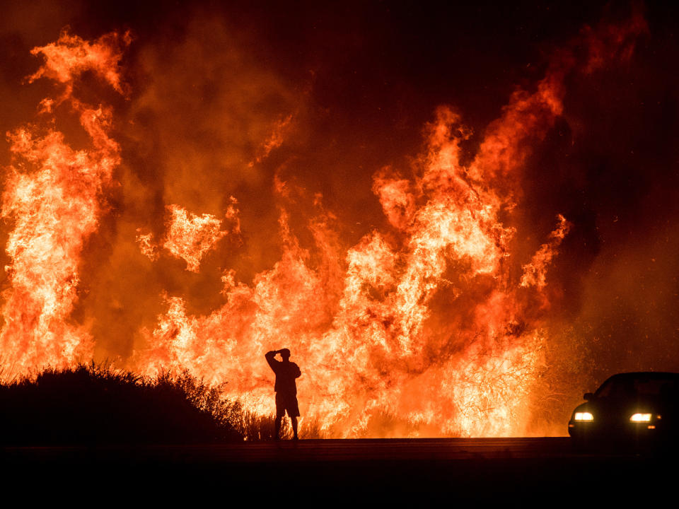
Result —
[[[118, 364], [147, 375], [188, 369], [226, 381], [228, 397], [269, 414], [272, 380], [263, 354], [287, 347], [303, 372], [304, 419], [325, 436], [525, 433], [549, 335], [549, 269], [571, 225], [559, 215], [529, 261], [516, 254], [521, 171], [562, 115], [567, 76], [625, 57], [629, 52], [617, 47], [629, 48], [642, 29], [634, 20], [603, 37], [587, 32], [593, 49], [585, 61], [559, 54], [535, 90], [511, 97], [473, 157], [463, 149], [472, 130], [451, 107], [439, 107], [411, 167], [375, 173], [372, 189], [388, 226], [354, 245], [342, 244], [337, 217], [318, 193], [300, 233], [294, 225], [304, 192], [277, 175], [280, 259], [252, 281], [220, 267], [223, 300], [211, 312], [192, 312], [187, 296], [163, 291], [164, 311], [154, 325], [137, 328], [134, 351]], [[30, 81], [50, 78], [64, 91], [42, 101], [42, 134], [40, 124], [9, 134], [14, 160], [1, 213], [13, 230], [0, 344], [20, 373], [72, 365], [94, 353], [90, 325], [72, 315], [83, 250], [105, 213], [121, 149], [111, 137], [112, 109], [82, 103], [74, 84], [91, 71], [127, 93], [120, 60], [130, 42], [129, 34], [87, 42], [63, 33], [33, 50], [45, 63]], [[87, 148], [73, 148], [54, 128], [64, 104], [79, 115]], [[284, 145], [293, 118], [275, 122], [255, 158], [243, 164], [255, 168]], [[247, 242], [238, 207], [248, 204], [237, 198], [219, 213], [163, 203], [160, 240], [138, 228], [131, 241], [151, 266], [169, 254], [185, 262], [191, 274], [183, 276], [202, 276], [207, 254], [225, 238]], [[383, 431], [381, 422], [389, 419], [397, 423]]]

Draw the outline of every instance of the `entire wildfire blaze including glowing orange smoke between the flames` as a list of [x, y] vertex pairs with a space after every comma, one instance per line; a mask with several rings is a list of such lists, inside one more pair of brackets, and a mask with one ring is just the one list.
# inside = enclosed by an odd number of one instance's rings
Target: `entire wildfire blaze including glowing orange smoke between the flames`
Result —
[[[417, 153], [361, 168], [360, 222], [309, 176], [332, 180], [324, 168], [296, 171], [313, 81], [289, 86], [228, 37], [219, 62], [197, 57], [225, 40], [199, 19], [166, 52], [69, 30], [33, 49], [26, 86], [53, 88], [8, 132], [3, 373], [92, 358], [187, 370], [266, 416], [263, 356], [285, 346], [304, 373], [302, 436], [560, 429], [571, 395], [555, 386], [586, 349], [559, 322], [567, 284], [551, 271], [580, 218], [530, 221], [526, 168], [564, 122], [569, 84], [627, 65], [644, 18], [581, 30], [484, 129], [437, 107]], [[190, 93], [210, 105], [201, 117]]]

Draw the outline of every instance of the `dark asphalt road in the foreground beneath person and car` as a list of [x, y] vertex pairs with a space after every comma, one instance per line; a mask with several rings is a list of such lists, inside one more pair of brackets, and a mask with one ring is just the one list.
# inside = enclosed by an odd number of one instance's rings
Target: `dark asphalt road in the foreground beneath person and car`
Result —
[[[494, 501], [586, 494], [656, 500], [679, 488], [672, 451], [575, 452], [569, 438], [300, 440], [234, 445], [5, 447], [3, 479], [86, 484], [95, 491], [220, 486], [350, 500]], [[14, 474], [14, 475], [12, 475]], [[167, 493], [163, 488], [163, 493]], [[153, 490], [151, 490], [153, 491]], [[204, 491], [203, 493], [212, 493]], [[220, 491], [221, 493], [221, 491]], [[676, 500], [677, 496], [673, 495]], [[404, 498], [405, 497], [405, 498]], [[581, 501], [582, 502], [582, 501]], [[529, 504], [533, 505], [533, 504]], [[581, 505], [581, 503], [576, 503]], [[671, 504], [675, 506], [675, 502]]]

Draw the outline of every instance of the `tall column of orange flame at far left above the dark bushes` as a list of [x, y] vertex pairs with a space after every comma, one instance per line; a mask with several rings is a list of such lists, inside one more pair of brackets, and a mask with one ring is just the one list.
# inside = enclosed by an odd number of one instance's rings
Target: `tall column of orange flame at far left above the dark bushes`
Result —
[[[118, 62], [128, 34], [110, 34], [91, 44], [64, 32], [57, 42], [33, 49], [45, 63], [30, 76], [65, 86], [59, 102], [70, 103], [91, 146], [76, 150], [62, 132], [27, 125], [8, 134], [14, 164], [7, 168], [1, 215], [12, 221], [6, 252], [11, 288], [4, 291], [0, 348], [16, 373], [47, 365], [63, 367], [93, 354], [93, 339], [69, 322], [78, 298], [79, 259], [95, 233], [103, 209], [103, 190], [120, 163], [120, 148], [109, 137], [112, 112], [73, 97], [74, 80], [93, 71], [122, 92]], [[50, 125], [54, 100], [41, 112]]]

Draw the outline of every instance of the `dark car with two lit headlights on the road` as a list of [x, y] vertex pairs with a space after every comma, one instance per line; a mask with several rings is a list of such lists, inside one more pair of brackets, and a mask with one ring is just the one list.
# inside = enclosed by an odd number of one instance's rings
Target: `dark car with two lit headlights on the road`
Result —
[[677, 441], [679, 373], [620, 373], [584, 399], [568, 423], [576, 446]]

